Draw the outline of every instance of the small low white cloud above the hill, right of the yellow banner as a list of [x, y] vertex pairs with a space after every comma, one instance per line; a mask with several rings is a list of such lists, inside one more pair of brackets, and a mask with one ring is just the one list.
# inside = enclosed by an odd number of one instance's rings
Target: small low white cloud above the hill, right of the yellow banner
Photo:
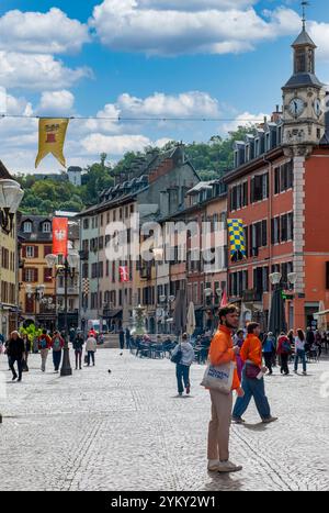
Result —
[[138, 152], [151, 144], [145, 135], [103, 135], [91, 134], [81, 141], [87, 153], [100, 155], [123, 155], [126, 152]]

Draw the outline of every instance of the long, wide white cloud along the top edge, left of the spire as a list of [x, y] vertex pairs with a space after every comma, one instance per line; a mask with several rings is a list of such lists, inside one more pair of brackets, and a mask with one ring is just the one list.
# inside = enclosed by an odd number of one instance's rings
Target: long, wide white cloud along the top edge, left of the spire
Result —
[[286, 20], [295, 21], [295, 11], [268, 11], [266, 20], [252, 3], [239, 1], [232, 8], [228, 1], [195, 0], [192, 8], [188, 1], [177, 8], [170, 1], [166, 8], [164, 0], [104, 0], [94, 8], [90, 25], [112, 49], [148, 55], [246, 52], [260, 41], [292, 33]]

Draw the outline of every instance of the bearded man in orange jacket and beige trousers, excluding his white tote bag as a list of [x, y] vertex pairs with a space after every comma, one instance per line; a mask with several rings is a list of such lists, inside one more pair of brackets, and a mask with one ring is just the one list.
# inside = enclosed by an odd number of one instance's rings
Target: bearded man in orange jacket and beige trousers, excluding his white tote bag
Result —
[[[234, 347], [232, 332], [239, 325], [239, 312], [234, 305], [219, 310], [219, 328], [215, 334], [209, 348], [209, 361], [213, 366], [236, 363], [236, 355], [240, 349]], [[229, 431], [231, 424], [232, 390], [243, 391], [237, 369], [234, 370], [231, 391], [229, 394], [211, 390], [212, 420], [208, 427], [208, 470], [218, 472], [237, 472], [242, 467], [229, 460]]]

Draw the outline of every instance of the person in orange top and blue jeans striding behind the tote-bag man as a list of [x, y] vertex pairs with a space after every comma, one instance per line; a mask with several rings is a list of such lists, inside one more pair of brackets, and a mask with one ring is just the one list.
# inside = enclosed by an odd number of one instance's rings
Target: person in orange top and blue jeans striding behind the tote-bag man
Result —
[[242, 371], [243, 397], [236, 401], [232, 419], [236, 423], [243, 423], [242, 415], [249, 406], [251, 398], [254, 399], [256, 406], [264, 424], [277, 421], [271, 415], [271, 409], [265, 395], [264, 377], [266, 367], [262, 367], [262, 343], [259, 338], [260, 325], [250, 323], [248, 325], [248, 335], [241, 348], [241, 358], [246, 363]]

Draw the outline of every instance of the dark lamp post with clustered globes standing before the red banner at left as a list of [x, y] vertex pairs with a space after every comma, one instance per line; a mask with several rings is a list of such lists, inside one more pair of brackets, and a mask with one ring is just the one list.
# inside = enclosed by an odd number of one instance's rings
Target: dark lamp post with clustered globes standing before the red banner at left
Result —
[[60, 376], [71, 376], [72, 368], [69, 358], [68, 345], [68, 278], [73, 279], [76, 269], [79, 267], [80, 257], [76, 252], [71, 252], [64, 258], [63, 255], [47, 255], [46, 263], [49, 268], [56, 267], [56, 275], [64, 275], [64, 327], [65, 327], [65, 345], [63, 355], [63, 365]]

